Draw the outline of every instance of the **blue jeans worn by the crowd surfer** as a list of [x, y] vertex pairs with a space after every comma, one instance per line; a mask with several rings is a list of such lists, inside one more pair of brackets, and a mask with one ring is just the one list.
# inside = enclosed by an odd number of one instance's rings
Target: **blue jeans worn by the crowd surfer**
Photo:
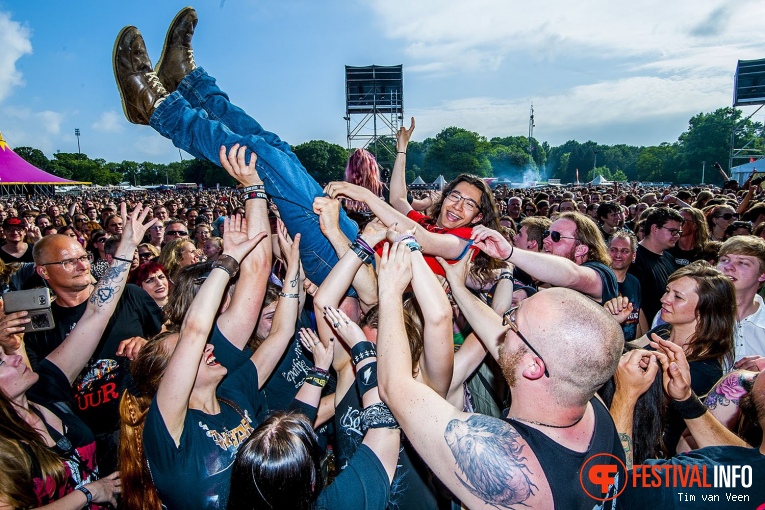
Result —
[[[198, 67], [151, 116], [151, 126], [197, 158], [220, 164], [220, 147], [247, 147], [246, 161], [257, 154], [256, 168], [266, 192], [279, 208], [290, 235], [301, 234], [300, 259], [306, 276], [316, 285], [327, 277], [337, 254], [321, 233], [313, 200], [323, 196], [321, 186], [306, 172], [288, 143], [266, 131], [244, 110], [231, 104], [215, 78]], [[340, 229], [353, 240], [358, 225], [340, 212]]]

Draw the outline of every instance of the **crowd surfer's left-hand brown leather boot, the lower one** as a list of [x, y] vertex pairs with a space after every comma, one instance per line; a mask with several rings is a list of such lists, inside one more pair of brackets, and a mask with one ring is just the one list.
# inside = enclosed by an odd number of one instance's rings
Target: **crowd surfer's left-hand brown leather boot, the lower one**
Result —
[[167, 91], [151, 67], [146, 45], [136, 27], [120, 31], [112, 62], [125, 117], [133, 124], [149, 124], [154, 108], [167, 97]]

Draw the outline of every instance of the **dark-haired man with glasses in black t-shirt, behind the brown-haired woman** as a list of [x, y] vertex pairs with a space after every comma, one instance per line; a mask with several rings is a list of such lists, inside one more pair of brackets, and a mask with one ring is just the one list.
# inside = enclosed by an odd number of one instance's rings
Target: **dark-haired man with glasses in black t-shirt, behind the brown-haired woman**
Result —
[[677, 244], [683, 233], [683, 217], [669, 207], [652, 208], [643, 229], [645, 237], [638, 245], [635, 262], [628, 272], [640, 282], [642, 307], [650, 324], [661, 309], [667, 279], [677, 269], [669, 249]]

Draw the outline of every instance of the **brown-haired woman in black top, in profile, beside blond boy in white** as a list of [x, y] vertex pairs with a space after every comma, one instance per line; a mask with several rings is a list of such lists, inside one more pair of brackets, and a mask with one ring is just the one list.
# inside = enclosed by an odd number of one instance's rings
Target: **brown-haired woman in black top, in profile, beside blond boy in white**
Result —
[[[733, 364], [736, 295], [730, 279], [704, 261], [672, 273], [661, 298], [661, 320], [634, 345], [645, 347], [653, 335], [683, 348], [691, 367], [691, 387], [706, 394]], [[655, 341], [655, 339], [654, 339]], [[685, 425], [670, 406], [665, 444], [674, 451]]]

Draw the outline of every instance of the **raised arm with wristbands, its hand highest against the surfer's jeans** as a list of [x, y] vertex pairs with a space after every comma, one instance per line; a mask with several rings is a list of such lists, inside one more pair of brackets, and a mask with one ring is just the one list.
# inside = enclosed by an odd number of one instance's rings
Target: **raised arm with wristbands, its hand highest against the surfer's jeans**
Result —
[[[250, 158], [250, 164], [245, 164], [246, 147], [234, 145], [228, 154], [221, 147], [220, 163], [223, 168], [242, 186], [262, 190], [261, 198], [246, 198], [252, 192], [245, 192], [245, 216], [247, 218], [247, 235], [256, 237], [261, 232], [271, 232], [268, 222], [268, 202], [265, 199], [265, 188], [260, 179], [255, 163], [257, 157]], [[224, 246], [225, 248], [225, 246]], [[244, 349], [260, 316], [263, 298], [271, 273], [271, 243], [258, 243], [255, 249], [245, 257], [239, 272], [239, 281], [231, 304], [218, 318], [217, 324], [223, 336], [234, 346]]]

